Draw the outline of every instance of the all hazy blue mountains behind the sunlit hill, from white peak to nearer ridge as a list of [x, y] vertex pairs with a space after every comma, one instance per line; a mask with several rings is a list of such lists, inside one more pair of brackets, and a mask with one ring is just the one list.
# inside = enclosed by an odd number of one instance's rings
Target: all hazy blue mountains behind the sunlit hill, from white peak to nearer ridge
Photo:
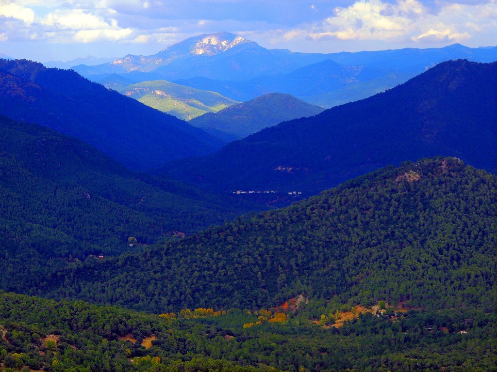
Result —
[[497, 47], [454, 44], [431, 49], [305, 54], [268, 50], [221, 32], [187, 39], [153, 56], [128, 55], [111, 63], [73, 68], [94, 81], [118, 73], [133, 82], [165, 79], [236, 101], [288, 93], [331, 108], [367, 98], [454, 59], [494, 62]]

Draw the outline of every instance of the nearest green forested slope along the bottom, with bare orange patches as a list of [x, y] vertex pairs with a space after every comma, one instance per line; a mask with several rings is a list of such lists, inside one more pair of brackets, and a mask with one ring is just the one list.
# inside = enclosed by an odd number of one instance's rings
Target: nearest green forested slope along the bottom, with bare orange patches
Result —
[[0, 291], [0, 369], [1, 365], [8, 371], [53, 372], [494, 369], [493, 313], [411, 310], [394, 320], [364, 313], [339, 328], [329, 328], [292, 312], [279, 312], [285, 320], [264, 320], [250, 328], [242, 325], [257, 319], [257, 314], [263, 318], [262, 314], [271, 313], [274, 310], [196, 309], [170, 318]]

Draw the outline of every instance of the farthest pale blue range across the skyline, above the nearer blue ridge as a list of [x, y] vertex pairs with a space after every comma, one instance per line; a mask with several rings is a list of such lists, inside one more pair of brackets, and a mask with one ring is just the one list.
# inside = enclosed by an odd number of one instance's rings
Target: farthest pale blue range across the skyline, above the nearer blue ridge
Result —
[[468, 48], [460, 44], [445, 48], [407, 48], [377, 52], [294, 53], [288, 50], [265, 49], [241, 36], [219, 32], [186, 39], [153, 56], [128, 55], [111, 63], [77, 65], [73, 68], [83, 76], [153, 71], [165, 76], [166, 80], [204, 77], [246, 81], [261, 76], [286, 75], [326, 60], [338, 63], [345, 69], [355, 66], [355, 69], [373, 68], [385, 72], [395, 70], [416, 74], [427, 66], [450, 59], [493, 62], [496, 57], [497, 47]]

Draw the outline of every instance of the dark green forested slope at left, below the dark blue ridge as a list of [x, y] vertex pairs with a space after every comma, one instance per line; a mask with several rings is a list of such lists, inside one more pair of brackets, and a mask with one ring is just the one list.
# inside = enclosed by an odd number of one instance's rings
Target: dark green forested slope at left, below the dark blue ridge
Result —
[[135, 174], [76, 138], [2, 116], [0, 173], [3, 289], [39, 281], [47, 266], [136, 250], [251, 210], [230, 197]]

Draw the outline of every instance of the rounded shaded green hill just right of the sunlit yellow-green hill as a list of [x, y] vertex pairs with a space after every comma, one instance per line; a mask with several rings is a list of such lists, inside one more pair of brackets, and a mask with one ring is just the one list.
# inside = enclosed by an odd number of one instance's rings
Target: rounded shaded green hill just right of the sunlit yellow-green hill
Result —
[[287, 120], [314, 116], [323, 110], [289, 94], [270, 93], [227, 107], [216, 114], [204, 114], [190, 120], [189, 124], [224, 140], [240, 139], [266, 127]]

